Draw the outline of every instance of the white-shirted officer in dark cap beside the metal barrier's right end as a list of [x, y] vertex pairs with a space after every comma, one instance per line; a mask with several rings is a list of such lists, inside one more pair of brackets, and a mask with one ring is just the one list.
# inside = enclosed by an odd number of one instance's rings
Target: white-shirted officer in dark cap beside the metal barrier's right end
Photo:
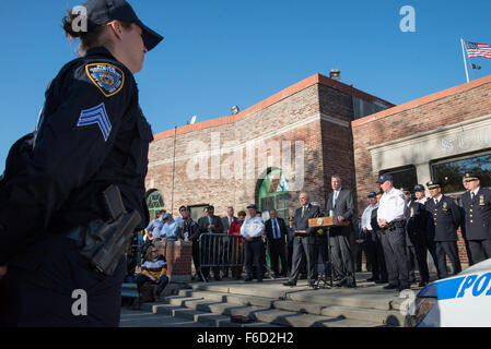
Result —
[[255, 262], [257, 281], [262, 282], [262, 265], [266, 263], [264, 258], [265, 244], [262, 242], [265, 224], [262, 218], [257, 215], [256, 205], [248, 205], [247, 209], [250, 217], [246, 218], [241, 227], [241, 236], [245, 239], [245, 268], [247, 273], [245, 281], [253, 280], [253, 262]]

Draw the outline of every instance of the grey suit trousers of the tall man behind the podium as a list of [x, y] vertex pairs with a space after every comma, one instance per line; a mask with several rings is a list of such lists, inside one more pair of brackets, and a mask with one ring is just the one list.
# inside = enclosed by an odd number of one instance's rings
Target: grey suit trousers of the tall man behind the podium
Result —
[[332, 229], [329, 248], [335, 276], [346, 278], [349, 285], [354, 284], [354, 267], [349, 238], [344, 233], [338, 233]]

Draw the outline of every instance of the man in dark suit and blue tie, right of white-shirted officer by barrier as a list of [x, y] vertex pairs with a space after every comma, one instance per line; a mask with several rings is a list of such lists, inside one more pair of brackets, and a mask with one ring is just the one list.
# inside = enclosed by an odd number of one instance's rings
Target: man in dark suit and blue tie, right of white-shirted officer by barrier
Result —
[[[287, 251], [285, 239], [288, 236], [287, 225], [283, 218], [277, 217], [277, 210], [269, 210], [269, 219], [265, 222], [266, 239], [268, 241], [268, 253], [271, 260], [271, 268], [274, 278], [287, 276]], [[278, 265], [278, 258], [281, 260], [281, 273]]]

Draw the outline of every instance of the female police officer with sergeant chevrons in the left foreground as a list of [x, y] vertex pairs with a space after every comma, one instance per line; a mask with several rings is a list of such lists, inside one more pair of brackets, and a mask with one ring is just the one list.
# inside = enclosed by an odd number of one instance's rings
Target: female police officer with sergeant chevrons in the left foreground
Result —
[[[117, 326], [125, 258], [97, 273], [68, 231], [106, 219], [101, 194], [116, 184], [128, 212], [148, 224], [144, 177], [152, 131], [133, 74], [163, 37], [125, 0], [89, 0], [63, 28], [82, 57], [49, 85], [36, 132], [11, 149], [0, 184], [0, 323]], [[75, 21], [86, 20], [78, 32]], [[24, 217], [27, 215], [27, 219]], [[120, 255], [119, 255], [120, 256]]]

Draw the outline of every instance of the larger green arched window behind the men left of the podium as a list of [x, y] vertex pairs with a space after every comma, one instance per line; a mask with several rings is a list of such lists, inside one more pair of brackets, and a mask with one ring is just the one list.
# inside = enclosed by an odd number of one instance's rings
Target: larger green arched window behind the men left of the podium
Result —
[[[259, 183], [258, 183], [259, 184]], [[288, 179], [281, 169], [270, 169], [265, 179], [261, 180], [258, 190], [259, 210], [267, 213], [276, 209], [278, 217], [288, 219], [290, 193]], [[269, 216], [269, 214], [267, 215]], [[265, 215], [262, 215], [265, 217]]]

